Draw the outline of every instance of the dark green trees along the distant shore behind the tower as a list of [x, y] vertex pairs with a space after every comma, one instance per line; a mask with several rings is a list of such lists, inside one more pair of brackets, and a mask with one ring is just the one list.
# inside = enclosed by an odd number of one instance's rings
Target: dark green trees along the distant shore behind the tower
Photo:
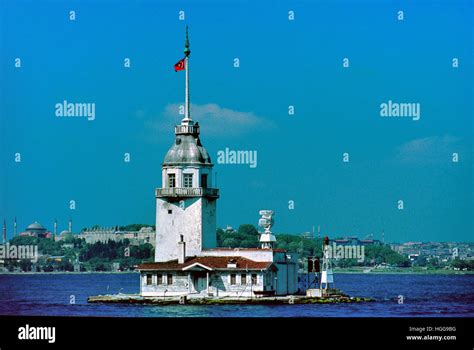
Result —
[[[140, 228], [145, 225], [132, 224], [127, 228]], [[152, 225], [146, 225], [152, 226]], [[243, 224], [237, 230], [217, 229], [217, 245], [230, 248], [255, 248], [259, 247], [259, 232], [251, 224]], [[276, 248], [296, 252], [302, 257], [301, 267], [305, 257], [322, 256], [322, 238], [310, 238], [294, 234], [276, 234]], [[7, 260], [5, 267], [10, 271], [111, 271], [133, 270], [136, 265], [143, 262], [152, 262], [154, 248], [151, 244], [130, 245], [128, 239], [121, 241], [86, 243], [84, 239], [69, 235], [61, 241], [49, 238], [17, 236], [10, 240], [10, 245], [37, 245], [42, 258], [34, 264], [29, 260]], [[386, 264], [396, 267], [411, 266], [410, 260], [393, 251], [390, 246], [366, 245], [364, 261], [356, 259], [340, 259], [334, 261], [338, 267], [375, 266]], [[76, 265], [76, 267], [75, 267]], [[414, 265], [427, 267], [441, 267], [440, 263], [432, 259], [420, 259]], [[460, 270], [473, 270], [472, 262], [454, 260], [451, 267]]]

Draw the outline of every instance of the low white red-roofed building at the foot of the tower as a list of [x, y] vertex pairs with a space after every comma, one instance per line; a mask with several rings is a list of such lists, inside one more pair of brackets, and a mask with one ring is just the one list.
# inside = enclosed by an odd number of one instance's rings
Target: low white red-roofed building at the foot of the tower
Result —
[[298, 292], [298, 261], [281, 249], [217, 248], [140, 265], [144, 297], [259, 297]]

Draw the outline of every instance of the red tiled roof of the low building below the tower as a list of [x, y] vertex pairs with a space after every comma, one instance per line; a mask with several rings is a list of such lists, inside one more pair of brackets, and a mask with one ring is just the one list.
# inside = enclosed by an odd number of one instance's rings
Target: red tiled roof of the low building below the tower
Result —
[[[241, 256], [198, 256], [187, 258], [184, 264], [178, 264], [178, 260], [167, 262], [147, 263], [138, 265], [139, 270], [187, 270], [192, 265], [199, 264], [208, 270], [266, 270], [274, 266], [271, 261], [253, 261]], [[236, 267], [228, 267], [228, 264], [236, 264]]]

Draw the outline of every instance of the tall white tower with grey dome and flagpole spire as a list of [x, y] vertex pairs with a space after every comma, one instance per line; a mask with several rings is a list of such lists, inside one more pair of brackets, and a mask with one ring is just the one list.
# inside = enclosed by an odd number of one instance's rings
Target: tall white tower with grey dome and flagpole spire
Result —
[[[175, 142], [162, 164], [162, 187], [156, 189], [155, 261], [178, 259], [178, 246], [186, 246], [186, 256], [201, 255], [215, 248], [216, 202], [219, 190], [211, 188], [211, 158], [199, 139], [199, 123], [194, 122], [189, 101], [188, 29], [185, 43], [185, 115], [175, 126]], [[181, 242], [181, 243], [180, 243]]]

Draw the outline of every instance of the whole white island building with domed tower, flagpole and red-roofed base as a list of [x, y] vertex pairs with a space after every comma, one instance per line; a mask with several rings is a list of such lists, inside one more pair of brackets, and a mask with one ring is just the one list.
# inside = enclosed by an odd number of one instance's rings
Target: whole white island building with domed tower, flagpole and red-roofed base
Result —
[[[273, 212], [260, 211], [261, 247], [218, 248], [211, 158], [201, 143], [199, 123], [190, 114], [189, 40], [175, 66], [186, 70], [185, 115], [162, 164], [156, 197], [155, 262], [141, 264], [143, 297], [257, 297], [298, 290], [298, 257], [275, 249]], [[176, 68], [178, 67], [178, 68]]]

